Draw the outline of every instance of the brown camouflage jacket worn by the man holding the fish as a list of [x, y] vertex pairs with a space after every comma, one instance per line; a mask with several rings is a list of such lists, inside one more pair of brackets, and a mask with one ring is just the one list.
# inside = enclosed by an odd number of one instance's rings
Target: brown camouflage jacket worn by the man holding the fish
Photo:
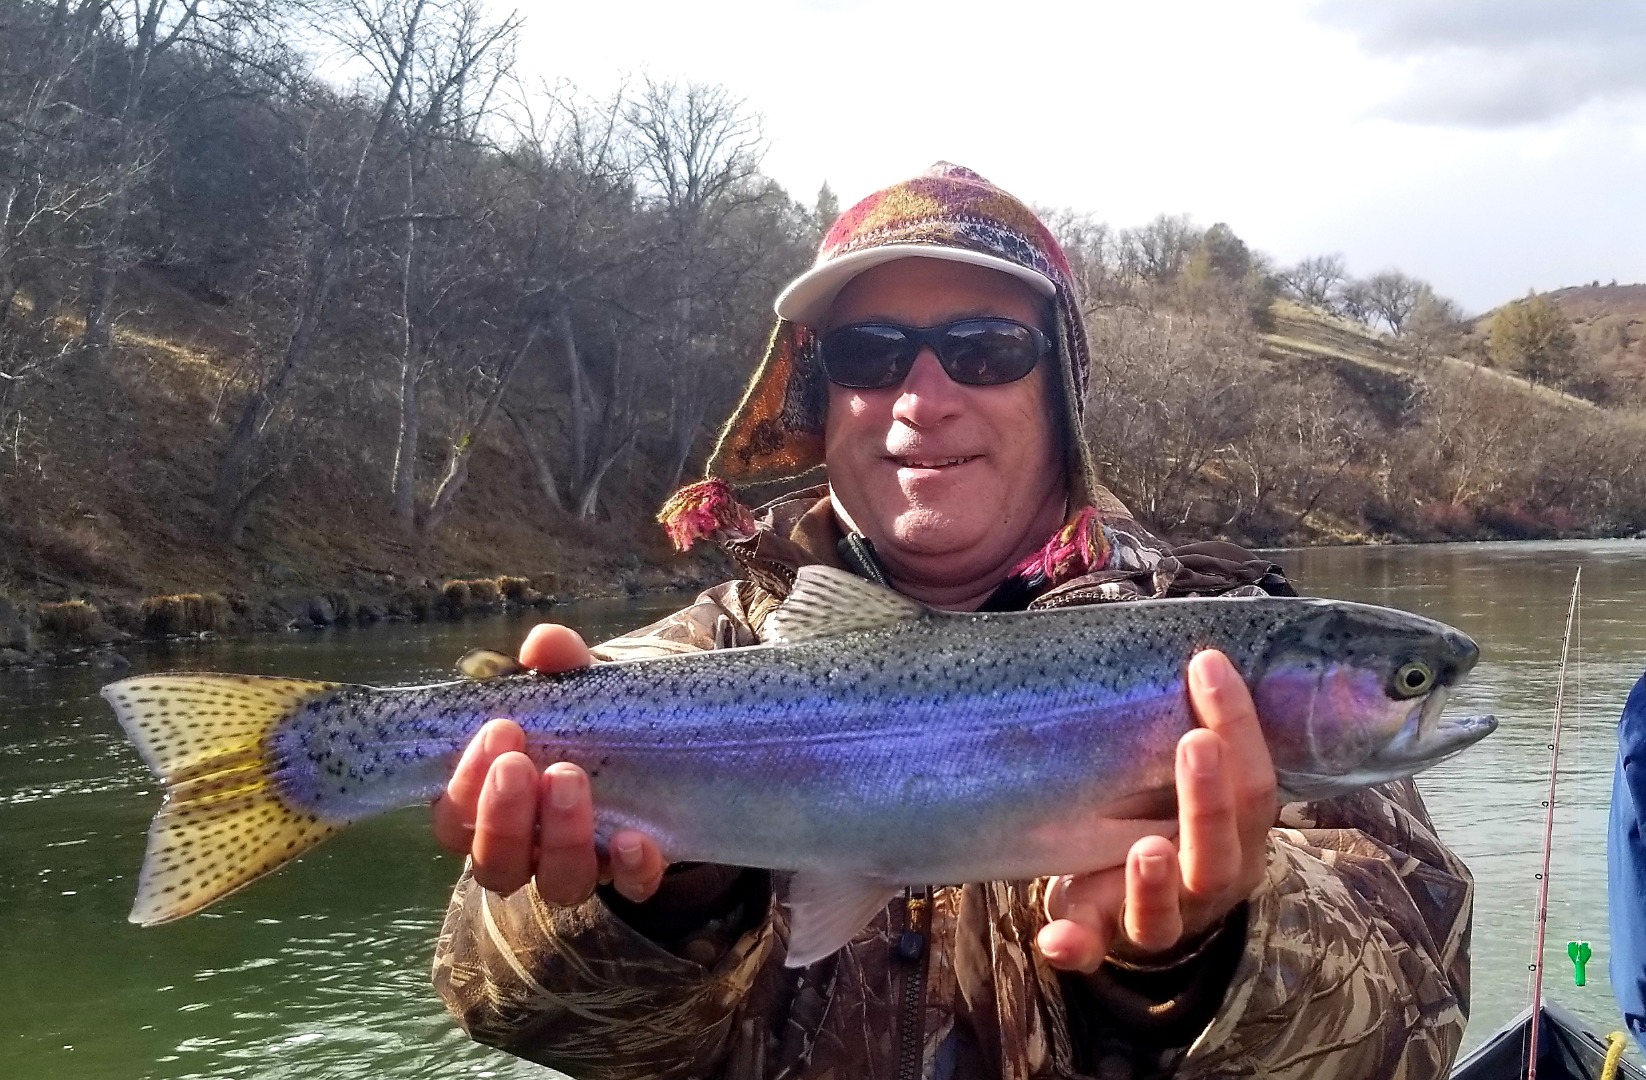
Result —
[[[1104, 528], [1108, 570], [991, 606], [1290, 593], [1233, 545], [1167, 548], [1113, 514]], [[746, 580], [596, 655], [754, 644], [798, 565], [872, 576], [854, 543], [820, 489], [782, 499], [724, 545]], [[579, 1080], [1444, 1077], [1467, 1019], [1473, 882], [1411, 780], [1286, 807], [1267, 863], [1192, 960], [1090, 978], [1034, 948], [1044, 882], [910, 891], [792, 970], [780, 876], [677, 868], [649, 905], [602, 889], [550, 909], [535, 889], [505, 899], [464, 874], [435, 985], [474, 1039]], [[704, 925], [647, 915], [703, 889], [728, 897]]]

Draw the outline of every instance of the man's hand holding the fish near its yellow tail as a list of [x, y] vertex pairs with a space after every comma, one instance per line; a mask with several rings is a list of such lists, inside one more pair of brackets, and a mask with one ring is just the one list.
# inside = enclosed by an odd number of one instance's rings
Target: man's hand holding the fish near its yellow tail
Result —
[[[543, 624], [527, 634], [520, 663], [570, 672], [593, 663], [576, 631]], [[472, 858], [474, 881], [504, 896], [525, 882], [548, 904], [581, 904], [599, 881], [630, 901], [650, 897], [663, 878], [663, 854], [650, 836], [624, 830], [606, 858], [594, 850], [589, 777], [571, 762], [545, 770], [525, 756], [525, 733], [494, 719], [463, 751], [446, 794], [435, 800], [435, 836]]]

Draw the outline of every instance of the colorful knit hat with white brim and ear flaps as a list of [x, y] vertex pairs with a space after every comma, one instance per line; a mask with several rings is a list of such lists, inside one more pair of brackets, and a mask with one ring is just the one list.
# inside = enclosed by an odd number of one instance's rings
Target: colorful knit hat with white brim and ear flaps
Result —
[[721, 430], [708, 472], [732, 486], [749, 486], [795, 477], [823, 464], [828, 385], [816, 359], [816, 331], [807, 323], [821, 319], [853, 277], [904, 257], [993, 267], [1052, 298], [1057, 346], [1052, 390], [1070, 497], [1075, 505], [1124, 514], [1098, 484], [1081, 436], [1091, 357], [1063, 249], [1019, 199], [946, 161], [871, 194], [828, 230], [811, 270], [777, 300], [780, 318], [765, 357]]

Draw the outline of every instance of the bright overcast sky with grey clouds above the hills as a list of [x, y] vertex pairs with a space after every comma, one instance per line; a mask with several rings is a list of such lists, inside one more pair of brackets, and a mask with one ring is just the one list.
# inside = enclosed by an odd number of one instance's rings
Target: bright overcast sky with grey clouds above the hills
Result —
[[1646, 282], [1646, 0], [522, 3], [525, 69], [718, 82], [764, 171], [854, 199], [943, 158], [1114, 226], [1228, 222], [1468, 311]]

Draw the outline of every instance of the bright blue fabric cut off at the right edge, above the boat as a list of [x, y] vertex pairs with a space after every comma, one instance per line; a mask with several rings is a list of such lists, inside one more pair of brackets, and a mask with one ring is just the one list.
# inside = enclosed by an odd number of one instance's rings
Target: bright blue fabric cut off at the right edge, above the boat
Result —
[[1618, 718], [1618, 767], [1606, 831], [1611, 993], [1634, 1044], [1646, 1050], [1646, 675]]

